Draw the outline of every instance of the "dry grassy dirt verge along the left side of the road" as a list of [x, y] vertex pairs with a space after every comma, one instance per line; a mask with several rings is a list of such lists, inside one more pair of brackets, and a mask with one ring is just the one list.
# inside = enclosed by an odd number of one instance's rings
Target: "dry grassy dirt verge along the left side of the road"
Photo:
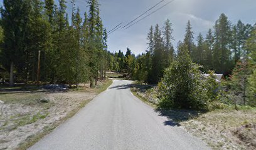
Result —
[[0, 94], [0, 149], [26, 149], [72, 117], [112, 80], [95, 89]]

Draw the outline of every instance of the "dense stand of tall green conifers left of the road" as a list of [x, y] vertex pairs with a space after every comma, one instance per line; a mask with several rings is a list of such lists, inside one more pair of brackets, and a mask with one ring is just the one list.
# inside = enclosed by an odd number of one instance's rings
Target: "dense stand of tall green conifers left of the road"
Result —
[[[72, 3], [70, 17], [67, 2]], [[90, 81], [92, 88], [106, 79], [105, 72], [119, 71], [115, 53], [107, 50], [99, 2], [90, 0], [85, 5], [88, 11], [80, 14], [75, 0], [4, 0], [0, 84], [78, 87]]]

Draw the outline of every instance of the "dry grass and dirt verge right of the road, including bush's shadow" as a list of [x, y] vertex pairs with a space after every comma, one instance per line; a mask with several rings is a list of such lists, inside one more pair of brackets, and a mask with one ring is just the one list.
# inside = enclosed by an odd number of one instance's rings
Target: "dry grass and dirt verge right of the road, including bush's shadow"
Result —
[[[156, 108], [157, 89], [137, 85], [131, 88], [137, 98]], [[161, 110], [161, 115], [212, 149], [256, 149], [256, 108], [218, 109], [215, 111]], [[167, 123], [168, 124], [168, 123]]]

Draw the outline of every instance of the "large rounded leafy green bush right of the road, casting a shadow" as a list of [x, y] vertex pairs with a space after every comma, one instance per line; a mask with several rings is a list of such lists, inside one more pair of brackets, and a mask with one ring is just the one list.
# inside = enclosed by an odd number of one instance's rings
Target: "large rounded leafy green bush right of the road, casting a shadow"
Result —
[[214, 97], [215, 85], [206, 84], [213, 82], [213, 79], [204, 81], [199, 68], [200, 66], [192, 63], [186, 51], [179, 54], [178, 59], [166, 69], [164, 78], [158, 85], [159, 107], [207, 109], [209, 97]]

